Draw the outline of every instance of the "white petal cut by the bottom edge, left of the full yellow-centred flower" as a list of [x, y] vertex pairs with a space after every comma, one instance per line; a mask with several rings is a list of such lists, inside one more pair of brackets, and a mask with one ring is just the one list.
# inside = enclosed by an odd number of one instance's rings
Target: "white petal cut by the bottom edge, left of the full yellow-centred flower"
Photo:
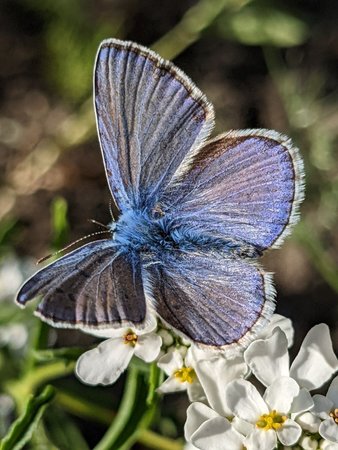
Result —
[[201, 450], [243, 450], [243, 440], [224, 417], [207, 420], [191, 437]]

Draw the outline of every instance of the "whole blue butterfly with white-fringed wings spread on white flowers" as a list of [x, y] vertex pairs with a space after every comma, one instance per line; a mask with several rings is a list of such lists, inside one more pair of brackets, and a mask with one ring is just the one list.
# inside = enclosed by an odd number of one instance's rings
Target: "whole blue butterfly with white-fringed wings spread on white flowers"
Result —
[[108, 239], [33, 275], [23, 306], [56, 327], [144, 329], [155, 314], [201, 347], [247, 345], [274, 310], [258, 262], [299, 216], [302, 159], [265, 129], [206, 141], [213, 106], [146, 47], [105, 40], [94, 69], [97, 130], [118, 209]]

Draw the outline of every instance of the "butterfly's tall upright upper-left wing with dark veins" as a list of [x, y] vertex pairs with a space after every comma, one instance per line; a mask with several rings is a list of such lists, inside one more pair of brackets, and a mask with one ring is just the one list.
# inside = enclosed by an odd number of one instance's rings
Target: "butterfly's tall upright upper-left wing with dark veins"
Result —
[[94, 72], [97, 128], [121, 211], [152, 207], [213, 126], [213, 109], [169, 61], [132, 42], [104, 41]]

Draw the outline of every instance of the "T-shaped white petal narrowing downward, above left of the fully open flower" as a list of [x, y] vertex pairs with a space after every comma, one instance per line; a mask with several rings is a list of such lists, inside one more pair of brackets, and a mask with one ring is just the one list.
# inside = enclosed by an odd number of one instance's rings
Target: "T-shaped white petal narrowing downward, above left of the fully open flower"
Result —
[[222, 416], [230, 416], [225, 402], [226, 385], [247, 373], [247, 365], [242, 357], [227, 360], [223, 356], [198, 361], [195, 370], [203, 386], [210, 406]]

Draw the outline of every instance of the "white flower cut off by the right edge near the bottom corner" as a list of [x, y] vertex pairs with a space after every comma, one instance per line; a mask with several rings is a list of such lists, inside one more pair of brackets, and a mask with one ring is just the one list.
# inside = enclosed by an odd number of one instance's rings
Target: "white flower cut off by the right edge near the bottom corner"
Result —
[[319, 434], [338, 444], [338, 376], [332, 380], [326, 396], [314, 395], [313, 413], [323, 419]]

